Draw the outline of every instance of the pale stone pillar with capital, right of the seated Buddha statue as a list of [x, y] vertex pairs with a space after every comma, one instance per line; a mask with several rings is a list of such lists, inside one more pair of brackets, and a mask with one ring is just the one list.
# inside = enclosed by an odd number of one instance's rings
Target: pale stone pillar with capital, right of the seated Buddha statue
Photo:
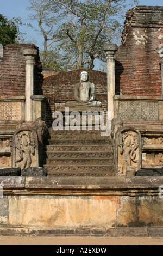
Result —
[[104, 44], [104, 51], [107, 54], [108, 111], [111, 112], [111, 120], [114, 118], [115, 53], [117, 50], [116, 44]]

